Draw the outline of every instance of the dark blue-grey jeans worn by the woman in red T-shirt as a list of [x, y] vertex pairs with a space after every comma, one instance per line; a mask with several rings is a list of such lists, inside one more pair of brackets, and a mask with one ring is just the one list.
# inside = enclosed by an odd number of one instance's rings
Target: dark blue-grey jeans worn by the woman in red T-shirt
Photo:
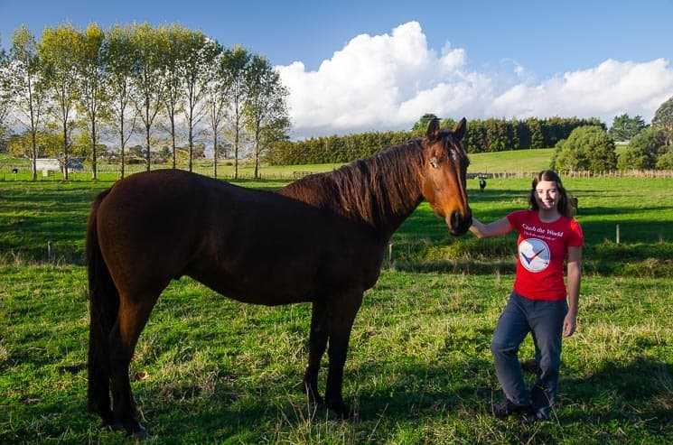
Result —
[[[566, 300], [539, 301], [511, 292], [491, 341], [496, 375], [505, 396], [519, 405], [532, 405], [548, 418], [556, 400], [561, 366], [561, 338], [568, 305]], [[531, 333], [535, 344], [537, 381], [530, 390], [519, 364], [519, 346]]]

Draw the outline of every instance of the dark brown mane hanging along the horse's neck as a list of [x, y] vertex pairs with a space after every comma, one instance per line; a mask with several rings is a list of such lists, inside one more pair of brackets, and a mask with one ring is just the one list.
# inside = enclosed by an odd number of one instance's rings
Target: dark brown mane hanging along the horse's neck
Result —
[[391, 217], [406, 218], [422, 199], [420, 141], [397, 144], [338, 170], [306, 176], [278, 193], [371, 226], [385, 224]]

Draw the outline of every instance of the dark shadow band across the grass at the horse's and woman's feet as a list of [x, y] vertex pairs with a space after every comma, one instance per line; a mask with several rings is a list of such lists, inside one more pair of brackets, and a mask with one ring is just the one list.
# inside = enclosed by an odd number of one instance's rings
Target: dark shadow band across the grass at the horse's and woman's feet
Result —
[[[452, 361], [449, 357], [438, 357], [435, 365], [374, 359], [356, 366], [347, 372], [344, 394], [360, 414], [358, 422], [341, 422], [321, 409], [311, 413], [303, 387], [297, 385], [300, 370], [254, 385], [248, 385], [245, 376], [222, 373], [207, 387], [188, 380], [134, 386], [145, 426], [159, 443], [275, 442], [283, 434], [295, 438], [304, 434], [304, 439], [311, 441], [318, 435], [342, 434], [342, 430], [354, 431], [361, 439], [377, 430], [386, 437], [400, 428], [415, 429], [438, 422], [471, 424], [475, 428], [488, 424], [495, 431], [509, 434], [511, 440], [525, 440], [530, 431], [516, 420], [489, 420], [488, 407], [501, 398], [491, 370], [488, 360]], [[60, 366], [59, 373], [62, 379], [75, 381], [86, 377], [82, 364]], [[630, 440], [651, 439], [652, 435], [670, 438], [672, 374], [670, 363], [646, 357], [635, 357], [627, 365], [606, 362], [581, 377], [564, 377], [562, 372], [557, 412], [551, 421], [537, 427], [537, 439], [556, 442], [565, 428], [586, 431], [588, 437], [603, 438], [608, 443], [622, 433], [629, 434]], [[373, 384], [376, 380], [381, 383]], [[350, 389], [353, 387], [356, 389]], [[42, 439], [81, 439], [91, 434], [98, 434], [99, 440], [106, 442], [121, 439], [121, 433], [96, 432], [98, 418], [86, 415], [85, 385], [72, 389], [81, 393], [63, 394], [66, 403], [42, 400], [37, 394], [13, 403], [13, 431], [2, 431], [0, 439], [31, 441], [37, 437], [33, 431], [36, 427]], [[2, 417], [0, 423], [5, 423]]]

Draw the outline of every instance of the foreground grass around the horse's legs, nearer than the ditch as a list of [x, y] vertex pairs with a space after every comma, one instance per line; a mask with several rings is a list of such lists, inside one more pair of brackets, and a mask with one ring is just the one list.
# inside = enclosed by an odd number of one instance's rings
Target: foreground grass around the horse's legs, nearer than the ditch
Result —
[[[117, 443], [86, 415], [86, 273], [0, 266], [0, 442]], [[189, 279], [158, 301], [132, 363], [149, 443], [665, 443], [673, 440], [673, 283], [591, 276], [550, 422], [486, 413], [509, 275], [385, 271], [351, 337], [360, 422], [312, 417], [297, 384], [308, 305], [243, 305]], [[635, 298], [637, 296], [637, 298]], [[663, 310], [663, 311], [662, 311]], [[532, 357], [527, 339], [521, 357]], [[323, 369], [322, 378], [324, 377]], [[532, 378], [532, 375], [528, 375]], [[131, 440], [129, 440], [131, 441]]]

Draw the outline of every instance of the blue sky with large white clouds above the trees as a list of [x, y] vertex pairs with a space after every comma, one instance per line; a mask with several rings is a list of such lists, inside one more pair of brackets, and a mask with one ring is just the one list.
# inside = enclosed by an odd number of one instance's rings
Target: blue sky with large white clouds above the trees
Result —
[[22, 24], [181, 23], [261, 53], [291, 90], [294, 136], [460, 118], [650, 121], [673, 96], [673, 0], [157, 2], [0, 0]]

